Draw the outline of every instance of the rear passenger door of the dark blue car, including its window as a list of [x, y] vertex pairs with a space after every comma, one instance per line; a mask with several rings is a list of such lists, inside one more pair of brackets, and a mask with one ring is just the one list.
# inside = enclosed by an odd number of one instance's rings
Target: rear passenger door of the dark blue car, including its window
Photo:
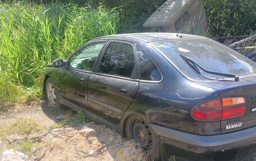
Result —
[[134, 44], [112, 40], [88, 81], [90, 112], [117, 125], [139, 86]]

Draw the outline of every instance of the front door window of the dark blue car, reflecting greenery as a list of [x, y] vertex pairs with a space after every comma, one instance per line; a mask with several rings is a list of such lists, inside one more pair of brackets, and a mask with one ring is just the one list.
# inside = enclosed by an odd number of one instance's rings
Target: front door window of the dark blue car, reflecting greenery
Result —
[[92, 71], [94, 63], [106, 41], [93, 42], [81, 48], [70, 58], [69, 66], [80, 70]]

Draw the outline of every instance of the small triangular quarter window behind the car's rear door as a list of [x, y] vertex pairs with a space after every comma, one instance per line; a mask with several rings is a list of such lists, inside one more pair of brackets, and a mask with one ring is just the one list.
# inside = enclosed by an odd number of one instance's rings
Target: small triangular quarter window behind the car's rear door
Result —
[[140, 79], [148, 81], [160, 81], [162, 79], [162, 74], [145, 50], [136, 46], [136, 53], [138, 57]]

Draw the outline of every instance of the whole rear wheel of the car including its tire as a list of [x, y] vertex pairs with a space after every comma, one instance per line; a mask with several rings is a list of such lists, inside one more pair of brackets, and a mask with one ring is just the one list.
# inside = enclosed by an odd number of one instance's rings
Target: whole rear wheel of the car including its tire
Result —
[[134, 115], [125, 122], [125, 135], [127, 140], [139, 142], [141, 148], [148, 150], [153, 160], [160, 158], [160, 146], [156, 133], [150, 127], [147, 118], [142, 115]]

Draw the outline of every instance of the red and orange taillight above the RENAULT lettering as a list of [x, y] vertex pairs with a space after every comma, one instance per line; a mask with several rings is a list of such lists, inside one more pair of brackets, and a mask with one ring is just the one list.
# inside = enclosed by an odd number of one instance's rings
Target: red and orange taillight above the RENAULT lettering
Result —
[[241, 117], [245, 112], [244, 104], [245, 99], [241, 96], [209, 100], [194, 108], [192, 115], [200, 121]]

